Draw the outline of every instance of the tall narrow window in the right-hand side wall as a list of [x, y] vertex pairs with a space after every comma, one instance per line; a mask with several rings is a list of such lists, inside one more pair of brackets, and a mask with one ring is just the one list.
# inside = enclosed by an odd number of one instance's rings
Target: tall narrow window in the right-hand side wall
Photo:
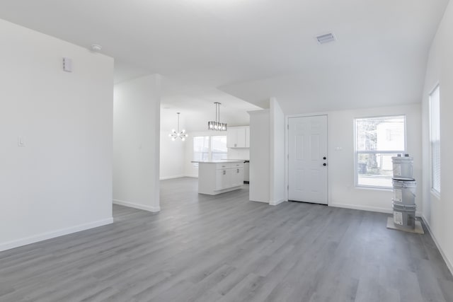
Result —
[[440, 194], [440, 90], [430, 94], [431, 189]]

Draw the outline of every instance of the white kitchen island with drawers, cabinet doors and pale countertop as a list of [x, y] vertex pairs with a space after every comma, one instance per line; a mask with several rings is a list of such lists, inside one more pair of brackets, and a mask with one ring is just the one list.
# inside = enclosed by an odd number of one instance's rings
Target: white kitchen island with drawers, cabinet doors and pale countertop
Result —
[[243, 161], [193, 161], [198, 163], [198, 193], [217, 195], [241, 189]]

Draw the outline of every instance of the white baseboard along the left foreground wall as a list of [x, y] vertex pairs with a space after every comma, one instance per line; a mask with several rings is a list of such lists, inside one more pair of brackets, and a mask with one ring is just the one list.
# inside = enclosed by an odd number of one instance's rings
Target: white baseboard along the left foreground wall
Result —
[[105, 226], [106, 224], [110, 224], [110, 223], [113, 223], [112, 217], [110, 217], [108, 219], [99, 220], [99, 221], [93, 221], [90, 223], [79, 224], [78, 226], [71, 226], [69, 228], [62, 228], [57, 231], [40, 233], [35, 236], [12, 240], [12, 241], [8, 241], [6, 243], [0, 243], [0, 252], [3, 250], [10, 250], [11, 248], [18, 248], [20, 246], [28, 245], [31, 243], [37, 243], [42, 240], [52, 239], [55, 237], [64, 236], [64, 235], [68, 235], [71, 233], [85, 231], [90, 228], [97, 228], [98, 226]]

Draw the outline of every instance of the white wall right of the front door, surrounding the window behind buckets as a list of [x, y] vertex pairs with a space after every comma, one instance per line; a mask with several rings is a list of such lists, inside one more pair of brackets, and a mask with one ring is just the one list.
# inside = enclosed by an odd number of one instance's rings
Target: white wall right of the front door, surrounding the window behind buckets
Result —
[[[354, 119], [406, 115], [406, 153], [414, 157], [413, 176], [421, 182], [420, 105], [403, 105], [328, 112], [328, 204], [334, 207], [391, 213], [392, 190], [355, 187]], [[340, 151], [336, 151], [340, 149]], [[421, 185], [415, 203], [421, 213]]]

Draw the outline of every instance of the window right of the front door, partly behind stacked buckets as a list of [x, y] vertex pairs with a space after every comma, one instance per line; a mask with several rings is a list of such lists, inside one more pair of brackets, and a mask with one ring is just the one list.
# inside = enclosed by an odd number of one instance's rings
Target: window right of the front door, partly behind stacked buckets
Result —
[[405, 152], [406, 117], [368, 117], [355, 120], [355, 184], [392, 187], [391, 157]]

